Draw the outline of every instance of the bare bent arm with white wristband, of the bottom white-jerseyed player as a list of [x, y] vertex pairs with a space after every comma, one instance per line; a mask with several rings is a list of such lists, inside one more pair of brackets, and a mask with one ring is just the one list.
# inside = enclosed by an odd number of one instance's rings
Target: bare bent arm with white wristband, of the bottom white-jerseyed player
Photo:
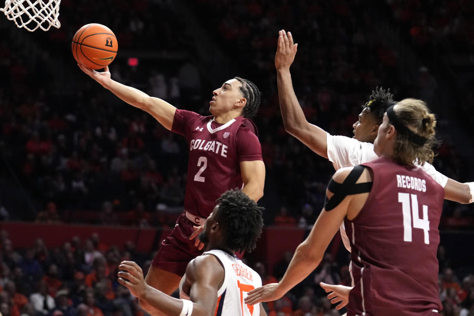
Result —
[[[122, 261], [118, 266], [118, 282], [160, 313], [181, 315], [183, 300], [173, 298], [146, 284], [142, 269], [133, 261]], [[186, 269], [186, 280], [191, 286], [192, 315], [207, 316], [214, 313], [217, 304], [217, 287], [224, 280], [224, 268], [214, 256], [197, 257]], [[191, 315], [191, 314], [190, 314]]]

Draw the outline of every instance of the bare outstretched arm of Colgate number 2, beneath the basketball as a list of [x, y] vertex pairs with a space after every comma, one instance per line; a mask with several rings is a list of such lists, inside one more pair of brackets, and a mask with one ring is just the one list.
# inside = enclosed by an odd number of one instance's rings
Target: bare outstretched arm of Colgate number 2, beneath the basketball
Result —
[[78, 66], [84, 73], [99, 82], [104, 88], [109, 89], [112, 93], [118, 96], [118, 98], [149, 113], [156, 118], [161, 125], [168, 130], [171, 130], [171, 127], [173, 126], [174, 113], [176, 112], [174, 106], [164, 100], [151, 97], [143, 91], [113, 80], [110, 76], [108, 66], [105, 67], [104, 72], [97, 72], [80, 64], [78, 64]]

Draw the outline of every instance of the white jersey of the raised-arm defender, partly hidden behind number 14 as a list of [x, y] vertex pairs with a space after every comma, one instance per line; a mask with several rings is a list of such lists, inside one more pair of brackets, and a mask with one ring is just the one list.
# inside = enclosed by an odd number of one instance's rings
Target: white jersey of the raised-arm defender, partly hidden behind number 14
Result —
[[[361, 163], [372, 161], [379, 158], [374, 152], [374, 144], [359, 142], [355, 138], [346, 136], [334, 136], [327, 133], [327, 158], [332, 162], [334, 169], [356, 166]], [[435, 167], [428, 162], [419, 166], [428, 173], [443, 188], [448, 182], [448, 177], [436, 171]], [[347, 237], [344, 223], [341, 225], [342, 242], [346, 249], [351, 252], [351, 243]]]

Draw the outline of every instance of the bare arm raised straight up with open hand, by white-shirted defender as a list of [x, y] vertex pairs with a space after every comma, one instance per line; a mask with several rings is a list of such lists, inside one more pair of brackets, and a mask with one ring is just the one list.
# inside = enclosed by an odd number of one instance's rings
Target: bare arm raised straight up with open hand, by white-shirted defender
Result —
[[293, 43], [290, 32], [278, 32], [278, 47], [275, 55], [278, 100], [285, 130], [298, 138], [319, 156], [327, 158], [326, 131], [306, 120], [305, 114], [293, 90], [290, 66], [295, 59], [298, 44]]

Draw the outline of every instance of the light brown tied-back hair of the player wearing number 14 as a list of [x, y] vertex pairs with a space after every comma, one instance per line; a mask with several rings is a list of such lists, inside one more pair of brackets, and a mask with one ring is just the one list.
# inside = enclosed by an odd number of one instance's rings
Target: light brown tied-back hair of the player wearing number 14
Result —
[[430, 113], [425, 102], [418, 99], [403, 99], [396, 104], [394, 111], [397, 119], [412, 132], [428, 139], [424, 145], [413, 143], [403, 133], [397, 133], [395, 138], [395, 160], [400, 163], [413, 165], [417, 162], [423, 165], [432, 162], [435, 157], [433, 147], [439, 144], [435, 138], [436, 118]]

